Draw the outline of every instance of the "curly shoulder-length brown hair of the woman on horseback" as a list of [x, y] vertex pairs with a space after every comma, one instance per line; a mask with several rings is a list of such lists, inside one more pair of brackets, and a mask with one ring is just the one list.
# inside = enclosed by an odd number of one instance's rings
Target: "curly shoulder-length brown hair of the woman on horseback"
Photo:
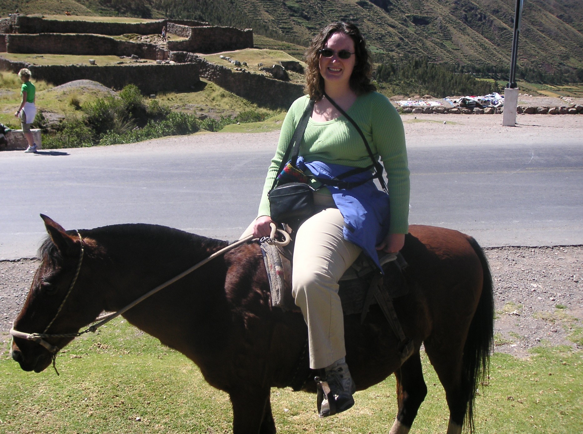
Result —
[[307, 63], [307, 70], [305, 73], [305, 91], [312, 100], [318, 101], [324, 96], [324, 78], [320, 74], [319, 51], [324, 48], [328, 38], [334, 33], [345, 33], [354, 41], [354, 52], [356, 53], [356, 64], [350, 76], [350, 89], [356, 92], [357, 95], [377, 90], [373, 83], [371, 83], [371, 73], [373, 71], [373, 63], [370, 59], [370, 52], [366, 48], [366, 41], [360, 33], [358, 27], [352, 23], [345, 23], [338, 21], [328, 24], [324, 29], [320, 30], [312, 39], [310, 47], [305, 52], [305, 62]]

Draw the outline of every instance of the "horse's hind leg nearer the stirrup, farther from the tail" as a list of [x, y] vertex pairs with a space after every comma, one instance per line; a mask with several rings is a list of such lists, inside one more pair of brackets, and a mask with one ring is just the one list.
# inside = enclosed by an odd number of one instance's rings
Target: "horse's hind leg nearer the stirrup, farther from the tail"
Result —
[[427, 395], [419, 348], [395, 371], [399, 412], [389, 434], [407, 434]]

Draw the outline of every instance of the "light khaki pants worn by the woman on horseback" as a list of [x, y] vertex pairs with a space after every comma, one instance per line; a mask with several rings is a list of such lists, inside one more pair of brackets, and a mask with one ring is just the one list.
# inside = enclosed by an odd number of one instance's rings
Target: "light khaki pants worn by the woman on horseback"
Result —
[[319, 212], [295, 237], [291, 289], [308, 324], [310, 368], [320, 369], [346, 355], [338, 280], [362, 249], [344, 239], [344, 219], [332, 196], [316, 192], [314, 202]]

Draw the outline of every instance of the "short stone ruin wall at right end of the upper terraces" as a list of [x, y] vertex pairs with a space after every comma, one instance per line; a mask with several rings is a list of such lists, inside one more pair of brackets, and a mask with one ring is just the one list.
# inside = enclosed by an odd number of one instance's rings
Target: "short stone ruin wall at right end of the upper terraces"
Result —
[[216, 53], [243, 50], [253, 48], [253, 30], [217, 26], [191, 27], [188, 40], [168, 41], [167, 44], [170, 51]]

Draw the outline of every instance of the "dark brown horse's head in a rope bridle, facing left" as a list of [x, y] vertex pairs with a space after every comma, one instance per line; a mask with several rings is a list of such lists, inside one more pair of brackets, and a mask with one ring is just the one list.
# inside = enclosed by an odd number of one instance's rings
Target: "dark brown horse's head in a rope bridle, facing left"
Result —
[[41, 264], [11, 331], [12, 358], [24, 371], [34, 372], [47, 368], [80, 327], [101, 312], [100, 304], [88, 299], [93, 291], [87, 257], [95, 253], [95, 242], [41, 217], [49, 238], [39, 250]]

